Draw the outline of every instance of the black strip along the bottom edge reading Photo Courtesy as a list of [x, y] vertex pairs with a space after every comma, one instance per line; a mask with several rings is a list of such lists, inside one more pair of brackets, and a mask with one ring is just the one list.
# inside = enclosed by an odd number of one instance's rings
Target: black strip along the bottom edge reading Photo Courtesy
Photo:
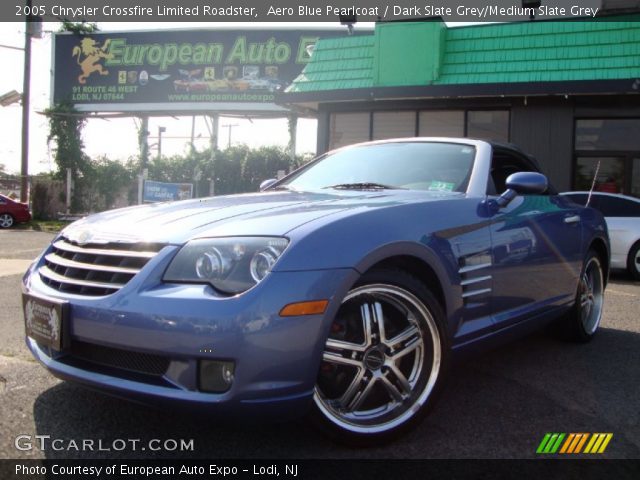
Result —
[[0, 460], [0, 478], [637, 479], [640, 460]]

